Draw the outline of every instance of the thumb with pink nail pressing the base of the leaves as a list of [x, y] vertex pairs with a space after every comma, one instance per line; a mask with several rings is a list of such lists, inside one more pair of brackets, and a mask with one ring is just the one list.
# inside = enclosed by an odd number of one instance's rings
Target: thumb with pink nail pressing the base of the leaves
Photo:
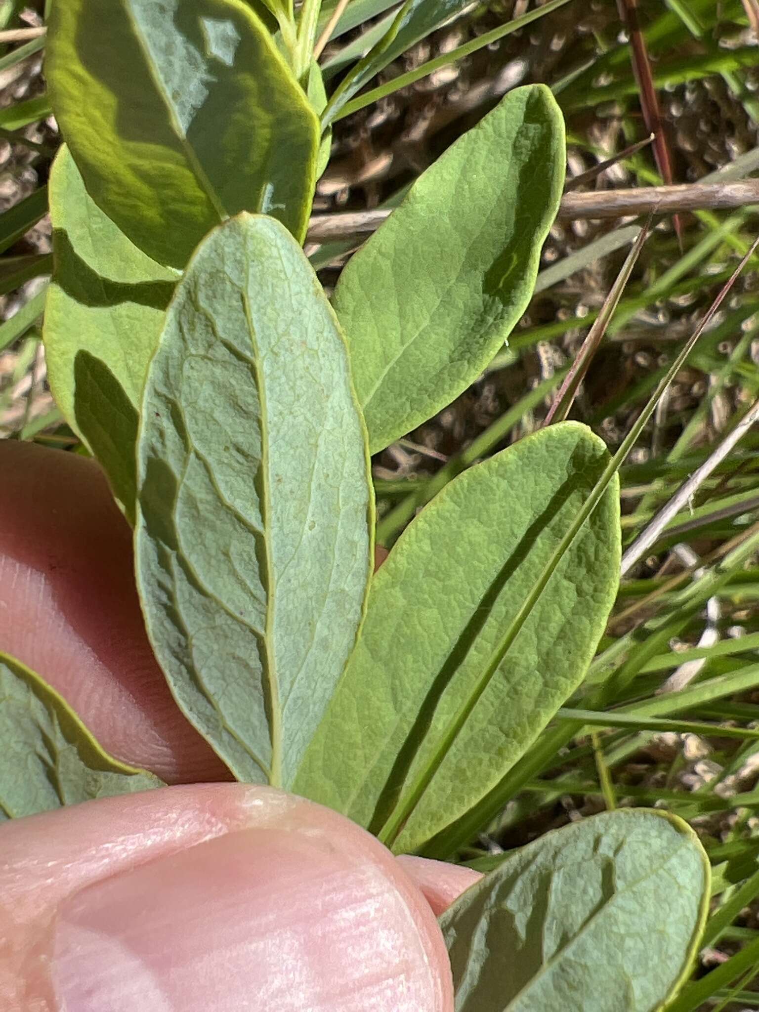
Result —
[[201, 784], [0, 828], [0, 1007], [451, 1012], [434, 915], [373, 837]]

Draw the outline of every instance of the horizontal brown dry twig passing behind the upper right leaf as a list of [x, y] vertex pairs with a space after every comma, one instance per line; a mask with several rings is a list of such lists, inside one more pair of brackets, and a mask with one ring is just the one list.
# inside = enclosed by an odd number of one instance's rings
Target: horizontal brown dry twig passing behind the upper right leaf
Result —
[[[641, 186], [635, 189], [566, 193], [559, 219], [637, 218], [686, 210], [719, 210], [759, 204], [759, 179], [728, 183], [684, 183], [678, 186]], [[315, 215], [309, 223], [309, 242], [327, 242], [346, 236], [368, 235], [392, 214], [373, 210]]]

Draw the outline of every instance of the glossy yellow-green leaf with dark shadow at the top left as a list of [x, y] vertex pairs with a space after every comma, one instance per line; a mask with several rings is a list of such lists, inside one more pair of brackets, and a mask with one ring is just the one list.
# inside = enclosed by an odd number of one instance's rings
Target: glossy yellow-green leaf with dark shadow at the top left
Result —
[[47, 73], [88, 192], [159, 263], [240, 210], [304, 238], [318, 119], [240, 0], [56, 3]]

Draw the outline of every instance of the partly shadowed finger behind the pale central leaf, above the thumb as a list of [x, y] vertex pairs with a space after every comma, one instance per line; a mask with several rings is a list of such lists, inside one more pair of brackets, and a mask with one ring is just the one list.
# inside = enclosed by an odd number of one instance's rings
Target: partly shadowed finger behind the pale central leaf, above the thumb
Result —
[[131, 531], [100, 468], [5, 440], [0, 474], [0, 649], [58, 689], [118, 759], [170, 783], [230, 779], [153, 657]]

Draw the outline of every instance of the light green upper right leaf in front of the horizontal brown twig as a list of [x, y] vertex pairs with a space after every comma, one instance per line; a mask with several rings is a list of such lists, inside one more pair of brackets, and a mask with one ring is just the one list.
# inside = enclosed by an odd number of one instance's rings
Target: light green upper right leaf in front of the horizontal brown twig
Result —
[[334, 305], [372, 453], [449, 404], [506, 341], [532, 293], [564, 162], [551, 92], [517, 88], [348, 262]]

